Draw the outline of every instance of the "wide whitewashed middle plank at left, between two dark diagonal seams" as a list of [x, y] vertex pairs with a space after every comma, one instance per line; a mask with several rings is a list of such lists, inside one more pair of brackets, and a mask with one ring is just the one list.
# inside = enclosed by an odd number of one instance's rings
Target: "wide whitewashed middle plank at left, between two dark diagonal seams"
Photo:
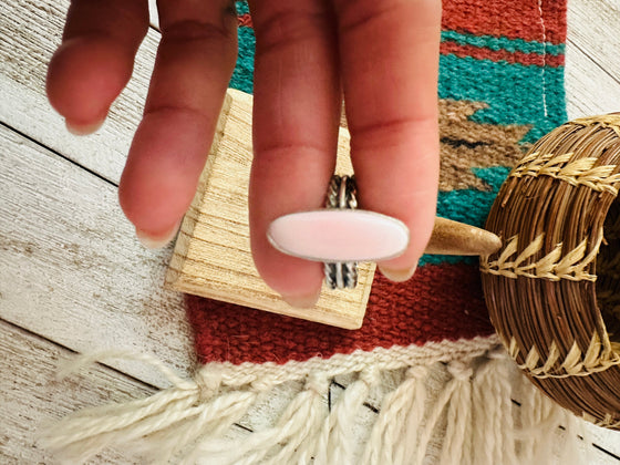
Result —
[[[187, 373], [183, 297], [162, 289], [170, 250], [147, 251], [116, 187], [0, 126], [0, 316], [78, 352], [152, 352]], [[156, 386], [161, 375], [114, 365]]]

